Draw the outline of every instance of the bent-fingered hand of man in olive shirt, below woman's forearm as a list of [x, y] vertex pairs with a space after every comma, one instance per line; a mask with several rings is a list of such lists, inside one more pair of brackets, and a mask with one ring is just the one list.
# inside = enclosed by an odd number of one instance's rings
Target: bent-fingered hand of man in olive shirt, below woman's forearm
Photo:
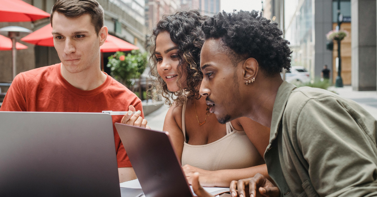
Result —
[[241, 179], [239, 181], [233, 180], [230, 183], [230, 194], [232, 197], [256, 197], [257, 192], [264, 197], [279, 197], [280, 190], [273, 185], [265, 176], [257, 173], [254, 177], [248, 179]]

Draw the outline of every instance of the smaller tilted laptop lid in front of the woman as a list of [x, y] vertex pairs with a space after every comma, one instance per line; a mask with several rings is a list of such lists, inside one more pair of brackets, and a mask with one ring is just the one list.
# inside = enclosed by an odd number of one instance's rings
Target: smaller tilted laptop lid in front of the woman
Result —
[[165, 131], [115, 123], [146, 197], [192, 197]]

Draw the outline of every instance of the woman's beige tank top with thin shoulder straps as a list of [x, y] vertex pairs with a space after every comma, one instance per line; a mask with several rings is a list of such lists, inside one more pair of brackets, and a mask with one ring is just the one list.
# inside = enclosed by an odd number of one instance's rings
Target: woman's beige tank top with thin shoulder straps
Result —
[[[182, 131], [186, 139], [185, 109], [182, 107]], [[189, 164], [204, 170], [241, 169], [264, 164], [264, 159], [251, 143], [245, 131], [237, 131], [230, 122], [227, 135], [205, 145], [190, 145], [184, 142], [182, 166]]]

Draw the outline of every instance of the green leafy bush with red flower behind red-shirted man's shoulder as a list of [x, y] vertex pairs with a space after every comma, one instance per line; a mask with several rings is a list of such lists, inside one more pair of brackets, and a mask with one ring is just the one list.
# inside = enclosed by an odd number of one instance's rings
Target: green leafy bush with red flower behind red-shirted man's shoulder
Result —
[[110, 75], [127, 87], [131, 86], [132, 79], [139, 78], [147, 66], [147, 53], [139, 50], [132, 50], [127, 55], [117, 51], [110, 56], [107, 67], [110, 68]]

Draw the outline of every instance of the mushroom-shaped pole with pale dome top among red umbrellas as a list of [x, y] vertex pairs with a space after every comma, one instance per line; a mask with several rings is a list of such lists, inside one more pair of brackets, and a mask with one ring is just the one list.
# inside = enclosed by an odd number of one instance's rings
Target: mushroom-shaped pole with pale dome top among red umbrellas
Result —
[[12, 80], [16, 77], [16, 37], [20, 36], [20, 32], [31, 33], [24, 27], [8, 26], [0, 29], [0, 32], [8, 32], [8, 37], [12, 40]]

